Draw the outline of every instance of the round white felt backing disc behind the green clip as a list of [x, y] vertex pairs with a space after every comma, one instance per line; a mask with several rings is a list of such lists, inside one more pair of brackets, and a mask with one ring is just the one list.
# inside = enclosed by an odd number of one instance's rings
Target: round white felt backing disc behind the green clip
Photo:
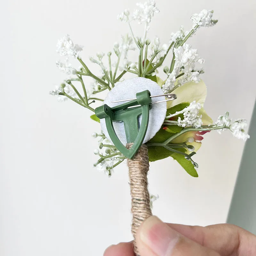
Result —
[[[110, 92], [108, 92], [108, 95], [104, 100], [103, 104], [107, 104], [109, 107], [112, 108], [125, 103], [125, 101], [117, 103], [111, 103], [111, 101], [136, 98], [137, 92], [143, 92], [145, 90], [148, 90], [151, 93], [151, 96], [163, 94], [161, 87], [156, 84], [156, 82], [144, 77], [135, 77], [116, 84], [116, 86]], [[165, 100], [165, 97], [161, 96], [152, 98], [152, 102], [159, 100]], [[149, 111], [148, 130], [143, 140], [143, 143], [152, 139], [155, 136], [156, 132], [160, 130], [162, 124], [164, 123], [165, 116], [166, 102], [152, 104], [152, 108]], [[141, 123], [141, 116], [139, 117], [139, 123]], [[105, 119], [100, 119], [100, 125], [102, 132], [109, 140], [111, 140], [108, 135]], [[121, 140], [121, 142], [126, 145], [127, 140], [124, 131], [124, 123], [113, 122], [113, 126], [119, 140]]]

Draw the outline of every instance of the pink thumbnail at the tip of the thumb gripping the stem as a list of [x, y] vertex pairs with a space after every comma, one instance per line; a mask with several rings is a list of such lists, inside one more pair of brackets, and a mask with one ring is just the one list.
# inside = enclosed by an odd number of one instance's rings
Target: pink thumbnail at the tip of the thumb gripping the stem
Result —
[[140, 227], [140, 240], [158, 256], [171, 255], [179, 235], [156, 216], [145, 220]]

